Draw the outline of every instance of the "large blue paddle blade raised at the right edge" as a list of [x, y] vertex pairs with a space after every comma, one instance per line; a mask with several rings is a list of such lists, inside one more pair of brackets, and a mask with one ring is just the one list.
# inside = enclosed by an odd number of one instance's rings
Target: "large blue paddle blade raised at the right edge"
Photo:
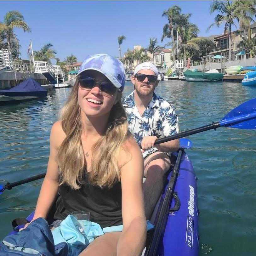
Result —
[[248, 100], [231, 110], [219, 124], [238, 129], [256, 129], [256, 99]]

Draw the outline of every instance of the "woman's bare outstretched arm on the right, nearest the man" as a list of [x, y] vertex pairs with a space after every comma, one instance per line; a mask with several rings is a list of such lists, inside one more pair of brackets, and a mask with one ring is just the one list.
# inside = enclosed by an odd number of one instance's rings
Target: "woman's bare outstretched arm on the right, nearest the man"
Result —
[[[117, 244], [118, 256], [139, 256], [145, 246], [146, 219], [142, 194], [144, 160], [133, 138], [120, 151], [123, 230]], [[125, 161], [129, 160], [127, 163]]]

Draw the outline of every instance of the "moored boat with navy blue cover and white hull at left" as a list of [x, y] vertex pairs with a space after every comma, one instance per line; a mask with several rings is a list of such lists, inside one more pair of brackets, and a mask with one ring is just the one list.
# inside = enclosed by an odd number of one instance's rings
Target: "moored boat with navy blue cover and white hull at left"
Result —
[[28, 78], [8, 90], [0, 90], [0, 102], [30, 100], [46, 97], [47, 89], [43, 88], [35, 79]]

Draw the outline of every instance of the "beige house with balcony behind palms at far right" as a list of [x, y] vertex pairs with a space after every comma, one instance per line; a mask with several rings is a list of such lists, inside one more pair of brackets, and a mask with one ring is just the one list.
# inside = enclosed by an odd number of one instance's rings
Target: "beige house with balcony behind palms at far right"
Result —
[[[256, 22], [254, 22], [251, 25], [251, 33], [252, 33], [252, 37], [254, 37], [254, 35], [256, 35]], [[242, 30], [239, 33], [239, 30], [236, 31], [232, 31], [231, 32], [231, 50], [233, 51], [240, 51], [242, 50], [241, 47], [238, 47], [239, 42], [242, 40], [242, 37], [240, 36], [244, 36], [245, 38], [248, 38], [248, 31], [244, 31]], [[215, 49], [210, 52], [210, 55], [221, 55], [222, 52], [226, 52], [229, 50], [229, 33], [227, 34], [221, 34], [218, 36], [214, 37], [214, 42], [216, 42], [216, 47]]]

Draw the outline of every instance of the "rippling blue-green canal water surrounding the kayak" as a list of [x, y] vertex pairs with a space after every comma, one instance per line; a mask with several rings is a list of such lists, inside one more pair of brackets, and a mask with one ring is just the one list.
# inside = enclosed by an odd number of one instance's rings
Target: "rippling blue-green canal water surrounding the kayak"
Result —
[[[133, 86], [126, 83], [124, 96]], [[0, 183], [46, 171], [49, 134], [71, 89], [48, 92], [47, 100], [0, 106]], [[241, 83], [159, 82], [156, 93], [175, 106], [180, 130], [219, 121], [227, 112], [256, 97]], [[198, 177], [200, 253], [255, 255], [256, 131], [218, 128], [190, 136], [188, 154]], [[35, 207], [41, 180], [0, 196], [0, 238], [11, 221]]]

